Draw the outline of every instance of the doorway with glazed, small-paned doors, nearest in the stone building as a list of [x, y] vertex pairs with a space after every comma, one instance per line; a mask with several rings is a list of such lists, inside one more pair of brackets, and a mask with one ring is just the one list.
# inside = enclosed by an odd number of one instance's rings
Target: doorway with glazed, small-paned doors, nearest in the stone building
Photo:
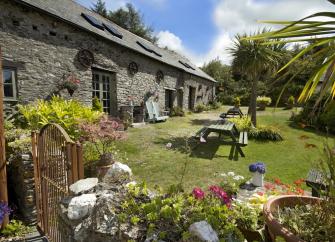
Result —
[[92, 70], [92, 96], [97, 97], [103, 111], [112, 116], [117, 116], [117, 93], [115, 73]]

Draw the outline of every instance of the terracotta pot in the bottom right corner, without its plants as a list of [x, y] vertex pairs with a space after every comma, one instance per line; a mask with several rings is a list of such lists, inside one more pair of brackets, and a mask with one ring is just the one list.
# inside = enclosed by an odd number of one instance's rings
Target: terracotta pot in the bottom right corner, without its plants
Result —
[[267, 225], [269, 235], [272, 241], [276, 241], [277, 236], [284, 238], [286, 242], [304, 241], [276, 220], [276, 218], [273, 216], [273, 213], [275, 211], [283, 207], [294, 207], [296, 205], [304, 204], [317, 204], [321, 201], [322, 200], [320, 198], [297, 195], [279, 196], [269, 200], [263, 207], [263, 213], [265, 217], [265, 223]]

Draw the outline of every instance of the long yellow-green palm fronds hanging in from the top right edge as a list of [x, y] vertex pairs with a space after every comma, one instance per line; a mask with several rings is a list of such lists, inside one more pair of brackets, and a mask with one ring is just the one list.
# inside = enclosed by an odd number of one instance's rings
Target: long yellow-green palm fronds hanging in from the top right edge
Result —
[[[335, 0], [328, 0], [335, 5]], [[324, 17], [328, 20], [312, 21], [315, 17]], [[310, 42], [295, 55], [278, 72], [281, 73], [292, 63], [306, 55], [313, 58], [323, 58], [319, 68], [312, 74], [302, 90], [298, 101], [307, 101], [314, 93], [322, 80], [321, 90], [315, 107], [323, 98], [328, 101], [335, 97], [335, 12], [318, 12], [298, 21], [263, 21], [264, 23], [279, 24], [284, 27], [277, 31], [260, 33], [249, 41], [270, 41], [273, 43], [304, 43]], [[273, 40], [276, 41], [273, 41]]]

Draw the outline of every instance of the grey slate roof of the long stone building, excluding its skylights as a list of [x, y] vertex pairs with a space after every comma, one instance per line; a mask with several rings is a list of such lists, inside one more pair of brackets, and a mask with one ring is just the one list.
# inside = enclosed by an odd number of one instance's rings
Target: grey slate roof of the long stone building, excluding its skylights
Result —
[[[174, 66], [190, 74], [216, 82], [212, 77], [207, 75], [200, 68], [193, 65], [185, 57], [178, 55], [172, 51], [157, 47], [151, 42], [121, 28], [120, 26], [114, 24], [113, 22], [107, 20], [106, 18], [100, 16], [99, 14], [94, 13], [93, 11], [81, 6], [80, 4], [72, 0], [15, 0], [15, 1], [17, 3], [32, 7], [37, 11], [43, 12], [48, 15], [52, 15], [53, 17], [56, 17], [61, 21], [67, 22], [71, 25], [76, 26], [77, 28], [99, 35], [100, 37], [103, 37], [119, 45], [132, 49], [152, 59]], [[103, 23], [112, 25], [118, 32], [120, 32], [123, 35], [123, 38], [120, 39], [109, 33], [107, 30], [101, 30], [94, 27], [81, 16], [82, 13], [89, 14], [98, 19], [99, 21], [102, 21]], [[146, 51], [138, 43], [136, 43], [137, 41], [145, 43], [145, 45], [149, 46], [152, 50], [161, 54], [162, 57], [156, 55], [155, 53], [150, 53]], [[194, 70], [191, 68], [186, 68], [179, 61], [186, 62]]]

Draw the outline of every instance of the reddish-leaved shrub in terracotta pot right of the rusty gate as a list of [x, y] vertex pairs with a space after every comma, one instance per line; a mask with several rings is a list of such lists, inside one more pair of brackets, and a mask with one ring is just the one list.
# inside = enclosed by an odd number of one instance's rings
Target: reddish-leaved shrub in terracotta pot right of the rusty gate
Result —
[[97, 162], [96, 173], [102, 178], [113, 165], [114, 157], [111, 149], [116, 140], [125, 138], [121, 122], [108, 116], [103, 116], [98, 123], [82, 123], [81, 140], [94, 144], [100, 159]]

